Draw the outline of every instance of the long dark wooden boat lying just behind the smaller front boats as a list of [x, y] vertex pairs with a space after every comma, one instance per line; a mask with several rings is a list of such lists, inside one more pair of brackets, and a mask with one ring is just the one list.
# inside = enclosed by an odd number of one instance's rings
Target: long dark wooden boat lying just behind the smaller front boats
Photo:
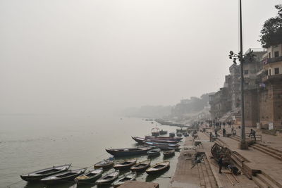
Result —
[[152, 146], [140, 146], [135, 148], [123, 148], [123, 149], [106, 149], [106, 152], [113, 156], [134, 156], [145, 154], [152, 149]]

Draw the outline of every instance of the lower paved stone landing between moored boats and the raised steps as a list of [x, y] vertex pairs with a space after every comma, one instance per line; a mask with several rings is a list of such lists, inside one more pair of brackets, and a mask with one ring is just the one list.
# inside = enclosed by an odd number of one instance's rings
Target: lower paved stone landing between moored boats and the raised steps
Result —
[[[210, 151], [213, 145], [214, 142], [209, 142], [209, 137], [203, 132], [198, 132], [195, 140], [186, 137], [170, 187], [259, 187], [246, 175], [232, 175], [226, 168], [220, 174]], [[204, 157], [200, 163], [194, 163], [199, 154]]]

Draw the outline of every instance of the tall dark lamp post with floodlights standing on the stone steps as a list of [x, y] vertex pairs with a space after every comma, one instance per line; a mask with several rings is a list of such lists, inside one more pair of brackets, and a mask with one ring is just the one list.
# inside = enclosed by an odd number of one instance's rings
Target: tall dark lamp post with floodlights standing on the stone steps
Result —
[[244, 113], [244, 74], [243, 74], [243, 63], [246, 58], [252, 57], [252, 51], [246, 56], [243, 56], [243, 32], [242, 32], [242, 0], [239, 1], [239, 22], [240, 22], [240, 52], [238, 54], [234, 54], [233, 51], [230, 51], [229, 58], [233, 58], [233, 63], [236, 64], [236, 60], [240, 61], [240, 89], [241, 89], [241, 142], [239, 144], [240, 149], [247, 149], [247, 143], [245, 141], [245, 113]]

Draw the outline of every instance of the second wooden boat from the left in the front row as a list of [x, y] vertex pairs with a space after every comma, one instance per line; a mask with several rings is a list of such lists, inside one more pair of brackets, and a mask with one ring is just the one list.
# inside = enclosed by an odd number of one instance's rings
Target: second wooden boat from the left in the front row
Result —
[[78, 170], [68, 170], [63, 173], [44, 177], [42, 180], [40, 180], [40, 182], [44, 184], [58, 184], [58, 183], [70, 182], [73, 181], [75, 177], [78, 177], [79, 175], [85, 173], [86, 169], [87, 168], [81, 168]]

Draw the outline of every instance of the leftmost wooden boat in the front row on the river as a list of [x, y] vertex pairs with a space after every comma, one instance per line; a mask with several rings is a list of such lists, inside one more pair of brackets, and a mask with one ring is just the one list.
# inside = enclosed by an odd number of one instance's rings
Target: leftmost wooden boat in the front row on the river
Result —
[[20, 177], [27, 182], [37, 182], [44, 177], [48, 177], [50, 175], [55, 175], [58, 173], [63, 173], [71, 167], [71, 164], [68, 165], [57, 165], [50, 168], [45, 168], [42, 170], [37, 170], [32, 173], [28, 173], [25, 175], [21, 175]]

